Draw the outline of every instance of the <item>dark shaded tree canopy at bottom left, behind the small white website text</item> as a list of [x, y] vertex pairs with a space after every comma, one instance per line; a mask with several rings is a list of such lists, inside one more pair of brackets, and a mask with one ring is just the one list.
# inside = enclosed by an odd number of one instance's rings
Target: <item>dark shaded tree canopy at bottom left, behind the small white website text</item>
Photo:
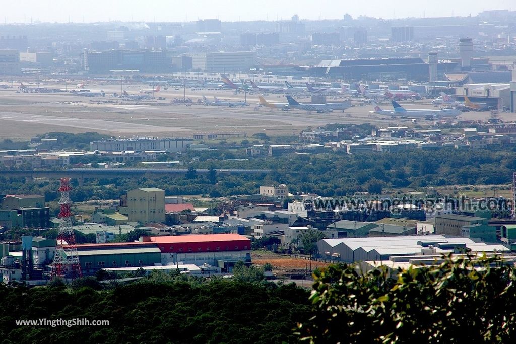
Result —
[[[0, 285], [0, 341], [6, 343], [297, 342], [308, 291], [294, 285], [187, 279], [153, 273], [110, 290], [88, 277], [66, 289]], [[109, 326], [17, 326], [18, 319], [109, 320]]]

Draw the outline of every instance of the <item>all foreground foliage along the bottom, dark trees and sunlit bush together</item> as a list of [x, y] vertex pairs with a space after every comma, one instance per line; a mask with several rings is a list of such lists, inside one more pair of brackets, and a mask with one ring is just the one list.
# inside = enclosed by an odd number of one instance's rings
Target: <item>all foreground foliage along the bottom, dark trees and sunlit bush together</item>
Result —
[[[500, 258], [447, 257], [438, 266], [361, 272], [316, 269], [307, 290], [269, 283], [271, 267], [236, 266], [234, 279], [140, 269], [48, 287], [0, 284], [2, 343], [460, 343], [512, 342], [516, 271]], [[102, 270], [101, 270], [102, 271]], [[310, 301], [312, 306], [310, 306]], [[17, 326], [15, 320], [109, 320], [109, 326]], [[294, 330], [297, 323], [297, 330]]]

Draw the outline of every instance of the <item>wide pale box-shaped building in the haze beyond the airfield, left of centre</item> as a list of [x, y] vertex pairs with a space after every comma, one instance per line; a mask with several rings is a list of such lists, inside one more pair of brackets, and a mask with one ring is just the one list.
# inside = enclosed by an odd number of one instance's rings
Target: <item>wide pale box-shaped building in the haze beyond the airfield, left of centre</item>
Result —
[[255, 52], [217, 52], [190, 54], [195, 71], [238, 72], [257, 64]]

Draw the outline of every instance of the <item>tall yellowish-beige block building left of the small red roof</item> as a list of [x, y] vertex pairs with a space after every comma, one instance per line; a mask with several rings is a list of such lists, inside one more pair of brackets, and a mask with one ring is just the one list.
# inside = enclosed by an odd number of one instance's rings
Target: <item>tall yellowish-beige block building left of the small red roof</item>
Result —
[[165, 222], [165, 190], [142, 188], [127, 192], [129, 221]]

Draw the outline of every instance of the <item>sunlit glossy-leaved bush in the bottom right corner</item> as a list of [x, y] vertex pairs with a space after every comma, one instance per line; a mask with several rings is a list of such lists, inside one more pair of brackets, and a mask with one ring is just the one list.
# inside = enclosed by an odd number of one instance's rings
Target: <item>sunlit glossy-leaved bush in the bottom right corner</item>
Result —
[[320, 269], [314, 317], [299, 324], [311, 343], [512, 342], [516, 274], [499, 258], [446, 259], [439, 266], [359, 273]]

